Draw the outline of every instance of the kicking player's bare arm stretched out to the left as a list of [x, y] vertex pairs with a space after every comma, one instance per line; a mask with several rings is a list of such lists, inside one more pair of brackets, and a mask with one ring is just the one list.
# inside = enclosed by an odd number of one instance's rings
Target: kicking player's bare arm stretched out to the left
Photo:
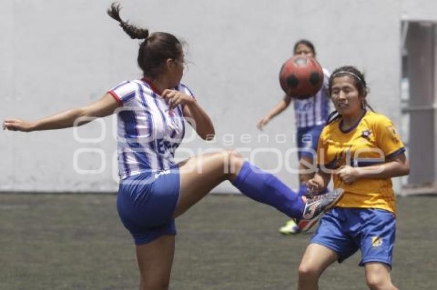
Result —
[[73, 108], [37, 121], [29, 122], [15, 118], [5, 119], [3, 121], [3, 130], [31, 132], [80, 126], [96, 118], [113, 114], [118, 106], [119, 104], [115, 99], [107, 93], [92, 104]]

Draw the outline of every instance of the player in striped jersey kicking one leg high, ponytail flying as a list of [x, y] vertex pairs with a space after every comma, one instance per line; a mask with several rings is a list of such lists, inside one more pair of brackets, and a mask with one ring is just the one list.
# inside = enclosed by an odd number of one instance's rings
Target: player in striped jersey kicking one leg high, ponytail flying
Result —
[[175, 164], [173, 156], [184, 138], [185, 120], [203, 139], [214, 135], [213, 124], [191, 90], [180, 83], [184, 52], [179, 40], [166, 32], [149, 34], [147, 29], [123, 21], [119, 12], [120, 6], [115, 4], [108, 10], [131, 38], [143, 40], [138, 52], [143, 78], [120, 83], [93, 104], [38, 121], [5, 119], [3, 128], [25, 132], [69, 128], [117, 113], [117, 209], [136, 245], [140, 289], [168, 288], [174, 219], [225, 180], [253, 200], [308, 221], [339, 200], [341, 190], [305, 200], [230, 150]]

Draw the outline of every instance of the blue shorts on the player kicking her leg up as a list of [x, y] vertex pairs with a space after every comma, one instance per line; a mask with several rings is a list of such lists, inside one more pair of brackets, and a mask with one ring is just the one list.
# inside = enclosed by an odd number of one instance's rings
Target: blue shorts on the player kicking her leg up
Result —
[[150, 243], [161, 235], [176, 234], [173, 212], [179, 200], [179, 189], [177, 166], [121, 180], [117, 210], [136, 245]]

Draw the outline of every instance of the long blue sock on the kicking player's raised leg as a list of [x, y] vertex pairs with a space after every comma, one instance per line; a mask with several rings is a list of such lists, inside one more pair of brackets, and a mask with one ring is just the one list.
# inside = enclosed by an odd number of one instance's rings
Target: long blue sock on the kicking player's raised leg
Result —
[[268, 204], [290, 218], [302, 218], [304, 202], [276, 176], [244, 162], [238, 176], [232, 182], [244, 195], [260, 203]]

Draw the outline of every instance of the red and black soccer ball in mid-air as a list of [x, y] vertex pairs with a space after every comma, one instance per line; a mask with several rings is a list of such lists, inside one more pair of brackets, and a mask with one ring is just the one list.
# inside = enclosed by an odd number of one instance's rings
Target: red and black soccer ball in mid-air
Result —
[[314, 96], [323, 85], [323, 69], [314, 59], [294, 56], [279, 72], [279, 82], [285, 94], [295, 99]]

